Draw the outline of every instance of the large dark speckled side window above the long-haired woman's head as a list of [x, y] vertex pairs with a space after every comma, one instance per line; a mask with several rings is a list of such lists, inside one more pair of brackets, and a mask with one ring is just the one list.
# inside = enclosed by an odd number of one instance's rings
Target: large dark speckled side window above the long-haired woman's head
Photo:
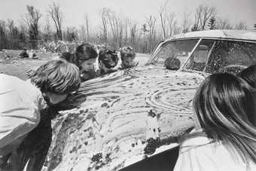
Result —
[[209, 56], [206, 72], [236, 74], [256, 64], [256, 43], [218, 40]]

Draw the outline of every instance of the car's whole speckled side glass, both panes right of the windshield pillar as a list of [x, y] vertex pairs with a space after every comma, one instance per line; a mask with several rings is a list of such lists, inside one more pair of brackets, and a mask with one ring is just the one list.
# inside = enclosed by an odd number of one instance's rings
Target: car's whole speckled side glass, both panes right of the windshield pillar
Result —
[[209, 74], [218, 72], [236, 74], [254, 64], [256, 64], [256, 42], [201, 40], [184, 65], [184, 70]]

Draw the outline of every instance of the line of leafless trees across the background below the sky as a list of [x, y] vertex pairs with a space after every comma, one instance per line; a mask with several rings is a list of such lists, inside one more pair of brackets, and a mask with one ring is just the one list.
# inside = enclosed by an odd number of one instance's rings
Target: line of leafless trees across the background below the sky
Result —
[[[133, 46], [137, 52], [151, 52], [160, 40], [173, 34], [206, 29], [246, 29], [245, 23], [232, 24], [218, 17], [215, 7], [200, 5], [194, 15], [184, 12], [182, 17], [166, 12], [166, 4], [160, 7], [159, 16], [145, 17], [139, 25], [129, 18], [119, 17], [113, 10], [103, 7], [101, 26], [95, 28], [90, 17], [85, 17], [81, 27], [63, 27], [63, 13], [59, 4], [53, 2], [47, 10], [47, 20], [42, 24], [42, 13], [26, 5], [26, 16], [19, 24], [14, 20], [0, 20], [0, 49], [38, 49], [47, 43], [66, 42], [108, 43], [114, 48]], [[158, 24], [160, 23], [160, 24]], [[254, 25], [256, 29], [256, 24]]]

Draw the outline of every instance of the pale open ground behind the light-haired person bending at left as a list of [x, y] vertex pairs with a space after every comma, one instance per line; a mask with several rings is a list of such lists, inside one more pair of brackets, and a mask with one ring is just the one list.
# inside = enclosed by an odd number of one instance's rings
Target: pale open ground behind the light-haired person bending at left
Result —
[[26, 80], [26, 71], [43, 65], [45, 62], [54, 58], [55, 53], [35, 52], [37, 59], [19, 58], [21, 50], [3, 50], [0, 51], [0, 73], [8, 74]]

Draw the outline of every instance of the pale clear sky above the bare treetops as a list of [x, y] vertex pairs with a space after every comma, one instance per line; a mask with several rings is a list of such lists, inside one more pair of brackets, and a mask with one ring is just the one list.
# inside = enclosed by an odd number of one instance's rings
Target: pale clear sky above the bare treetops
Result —
[[[83, 25], [86, 15], [91, 26], [100, 26], [103, 7], [108, 7], [118, 16], [130, 18], [139, 25], [145, 23], [145, 18], [151, 15], [160, 21], [160, 7], [166, 2], [166, 0], [0, 0], [0, 20], [12, 19], [18, 23], [26, 14], [26, 5], [32, 5], [41, 11], [43, 14], [41, 23], [44, 23], [47, 20], [49, 5], [53, 1], [60, 5], [64, 16], [64, 27]], [[193, 22], [194, 11], [202, 4], [216, 7], [217, 16], [227, 18], [231, 23], [242, 21], [248, 28], [253, 28], [256, 23], [256, 0], [169, 0], [165, 10], [175, 12], [180, 20], [184, 12], [190, 13], [190, 20]]]

